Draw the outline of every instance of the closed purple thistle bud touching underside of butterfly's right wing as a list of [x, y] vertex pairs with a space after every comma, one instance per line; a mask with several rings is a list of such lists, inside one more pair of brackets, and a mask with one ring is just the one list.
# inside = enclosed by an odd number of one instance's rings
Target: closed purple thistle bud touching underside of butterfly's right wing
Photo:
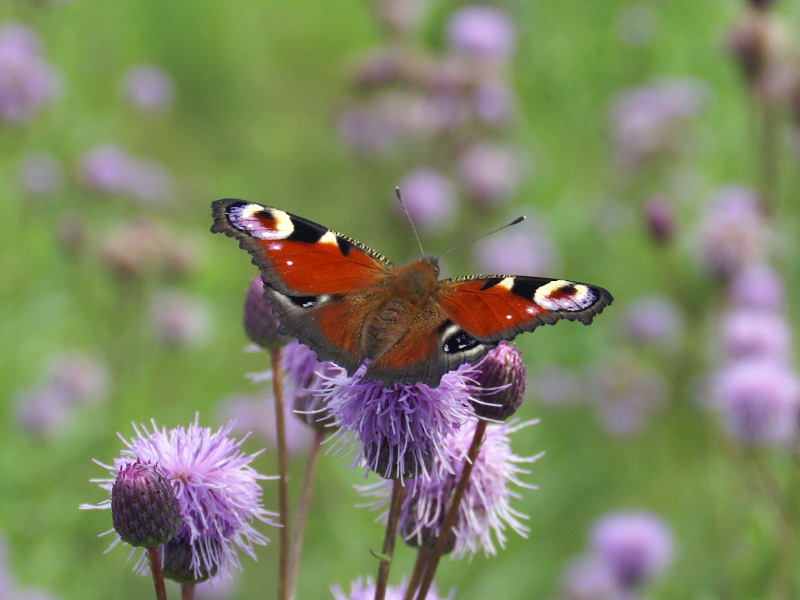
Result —
[[501, 342], [480, 362], [473, 379], [477, 391], [472, 407], [479, 418], [504, 421], [522, 404], [525, 365], [516, 346]]

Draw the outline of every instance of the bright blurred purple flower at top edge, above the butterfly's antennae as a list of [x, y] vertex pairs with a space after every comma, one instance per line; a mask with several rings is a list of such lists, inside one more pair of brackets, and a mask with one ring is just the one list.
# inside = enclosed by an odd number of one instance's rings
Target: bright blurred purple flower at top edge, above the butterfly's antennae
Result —
[[476, 4], [453, 13], [447, 24], [447, 40], [456, 52], [507, 60], [516, 46], [516, 32], [505, 12]]

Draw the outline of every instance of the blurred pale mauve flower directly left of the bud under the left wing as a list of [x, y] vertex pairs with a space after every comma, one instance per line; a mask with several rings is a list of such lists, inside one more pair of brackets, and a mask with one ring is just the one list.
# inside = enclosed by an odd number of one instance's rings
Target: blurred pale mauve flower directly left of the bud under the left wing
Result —
[[163, 291], [154, 298], [150, 320], [159, 341], [173, 347], [199, 346], [212, 328], [206, 302], [177, 291]]

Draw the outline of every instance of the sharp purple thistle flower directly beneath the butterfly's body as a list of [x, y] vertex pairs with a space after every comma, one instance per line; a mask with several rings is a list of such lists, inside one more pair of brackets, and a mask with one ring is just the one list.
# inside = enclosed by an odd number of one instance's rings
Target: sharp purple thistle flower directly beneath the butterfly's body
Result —
[[444, 438], [472, 416], [475, 366], [445, 373], [439, 387], [363, 381], [367, 365], [350, 377], [327, 378], [317, 394], [340, 427], [335, 445], [356, 445], [351, 466], [364, 464], [385, 479], [426, 476], [432, 459], [445, 460]]

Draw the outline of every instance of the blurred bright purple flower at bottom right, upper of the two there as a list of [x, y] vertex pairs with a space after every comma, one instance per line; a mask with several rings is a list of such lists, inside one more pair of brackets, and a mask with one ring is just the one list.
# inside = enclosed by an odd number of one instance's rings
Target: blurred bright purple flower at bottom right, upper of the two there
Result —
[[673, 539], [667, 524], [648, 512], [620, 512], [600, 519], [592, 548], [624, 588], [652, 581], [672, 562]]

